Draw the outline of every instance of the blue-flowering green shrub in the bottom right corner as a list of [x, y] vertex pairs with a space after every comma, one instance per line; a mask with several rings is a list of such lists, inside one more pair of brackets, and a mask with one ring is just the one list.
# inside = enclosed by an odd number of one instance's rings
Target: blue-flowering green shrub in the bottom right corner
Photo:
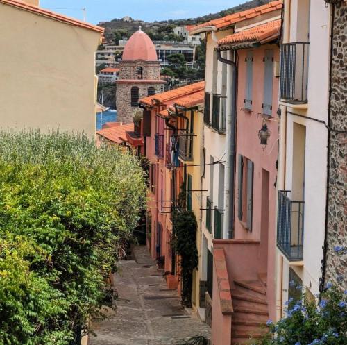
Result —
[[270, 333], [261, 345], [345, 345], [347, 344], [347, 290], [328, 283], [318, 305], [303, 293], [287, 301], [286, 316], [269, 320]]

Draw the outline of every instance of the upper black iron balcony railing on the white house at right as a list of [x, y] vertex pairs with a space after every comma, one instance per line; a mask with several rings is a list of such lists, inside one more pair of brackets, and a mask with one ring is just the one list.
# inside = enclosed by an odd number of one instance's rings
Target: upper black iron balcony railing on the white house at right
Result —
[[280, 101], [307, 103], [309, 47], [308, 42], [282, 44]]

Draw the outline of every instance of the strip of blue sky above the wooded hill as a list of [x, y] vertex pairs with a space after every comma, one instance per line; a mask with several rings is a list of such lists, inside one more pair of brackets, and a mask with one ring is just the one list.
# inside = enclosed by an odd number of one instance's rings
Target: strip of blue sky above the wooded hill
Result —
[[130, 16], [146, 22], [194, 18], [226, 10], [246, 0], [40, 0], [40, 6], [54, 12], [98, 24]]

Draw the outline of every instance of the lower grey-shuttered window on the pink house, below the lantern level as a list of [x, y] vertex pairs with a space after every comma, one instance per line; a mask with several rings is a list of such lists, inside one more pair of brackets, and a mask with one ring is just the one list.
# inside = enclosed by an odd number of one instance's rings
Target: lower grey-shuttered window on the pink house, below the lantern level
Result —
[[253, 162], [243, 155], [239, 155], [237, 215], [246, 229], [250, 231], [253, 221], [253, 171]]

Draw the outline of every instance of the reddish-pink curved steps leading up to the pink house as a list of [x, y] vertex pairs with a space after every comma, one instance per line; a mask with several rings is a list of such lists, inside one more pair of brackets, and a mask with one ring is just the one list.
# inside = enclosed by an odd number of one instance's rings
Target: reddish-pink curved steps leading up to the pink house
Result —
[[234, 280], [233, 286], [231, 344], [250, 345], [269, 331], [266, 275], [260, 275], [259, 280]]

